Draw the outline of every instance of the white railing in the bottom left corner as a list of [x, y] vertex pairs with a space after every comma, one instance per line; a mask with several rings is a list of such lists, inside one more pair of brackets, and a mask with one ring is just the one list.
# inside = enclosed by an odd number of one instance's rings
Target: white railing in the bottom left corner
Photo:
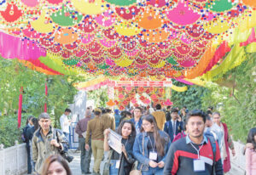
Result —
[[26, 144], [19, 144], [4, 149], [0, 145], [0, 175], [20, 175], [27, 171]]

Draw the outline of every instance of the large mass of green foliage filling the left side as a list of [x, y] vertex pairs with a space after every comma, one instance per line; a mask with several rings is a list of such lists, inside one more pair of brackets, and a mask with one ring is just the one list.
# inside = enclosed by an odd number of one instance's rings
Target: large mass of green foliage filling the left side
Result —
[[[0, 58], [0, 144], [12, 145], [17, 139], [15, 136], [20, 135], [16, 129], [20, 87], [23, 87], [22, 123], [27, 114], [37, 117], [44, 112], [47, 103], [52, 125], [58, 127], [61, 114], [78, 92], [73, 83], [80, 80], [79, 76], [46, 76], [26, 68], [18, 60]], [[45, 82], [48, 96], [45, 96]]]

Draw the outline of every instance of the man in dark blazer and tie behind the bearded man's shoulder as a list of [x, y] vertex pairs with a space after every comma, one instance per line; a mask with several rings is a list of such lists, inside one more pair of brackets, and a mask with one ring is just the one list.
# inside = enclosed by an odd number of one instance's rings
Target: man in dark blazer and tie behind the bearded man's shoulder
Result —
[[177, 121], [177, 113], [177, 109], [174, 108], [171, 110], [172, 120], [166, 121], [164, 127], [164, 131], [169, 134], [171, 141], [175, 138], [177, 133], [181, 133], [183, 131], [183, 121]]

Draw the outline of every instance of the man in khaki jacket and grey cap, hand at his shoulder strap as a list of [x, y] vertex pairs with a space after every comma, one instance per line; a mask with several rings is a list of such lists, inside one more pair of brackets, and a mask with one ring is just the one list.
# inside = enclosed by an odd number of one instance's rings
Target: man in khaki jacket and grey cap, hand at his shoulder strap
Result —
[[67, 151], [68, 144], [61, 130], [50, 126], [51, 121], [47, 113], [40, 114], [38, 121], [40, 127], [32, 138], [32, 159], [36, 162], [36, 172], [40, 174], [44, 160], [49, 155], [59, 154], [61, 150]]

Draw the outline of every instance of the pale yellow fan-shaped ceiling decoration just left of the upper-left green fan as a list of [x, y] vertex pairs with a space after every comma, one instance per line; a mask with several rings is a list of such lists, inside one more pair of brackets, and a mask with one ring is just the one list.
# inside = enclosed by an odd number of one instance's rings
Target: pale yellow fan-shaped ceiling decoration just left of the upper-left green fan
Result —
[[49, 20], [45, 20], [46, 10], [43, 10], [38, 20], [32, 20], [31, 25], [35, 31], [40, 33], [49, 33], [54, 30], [53, 24]]

